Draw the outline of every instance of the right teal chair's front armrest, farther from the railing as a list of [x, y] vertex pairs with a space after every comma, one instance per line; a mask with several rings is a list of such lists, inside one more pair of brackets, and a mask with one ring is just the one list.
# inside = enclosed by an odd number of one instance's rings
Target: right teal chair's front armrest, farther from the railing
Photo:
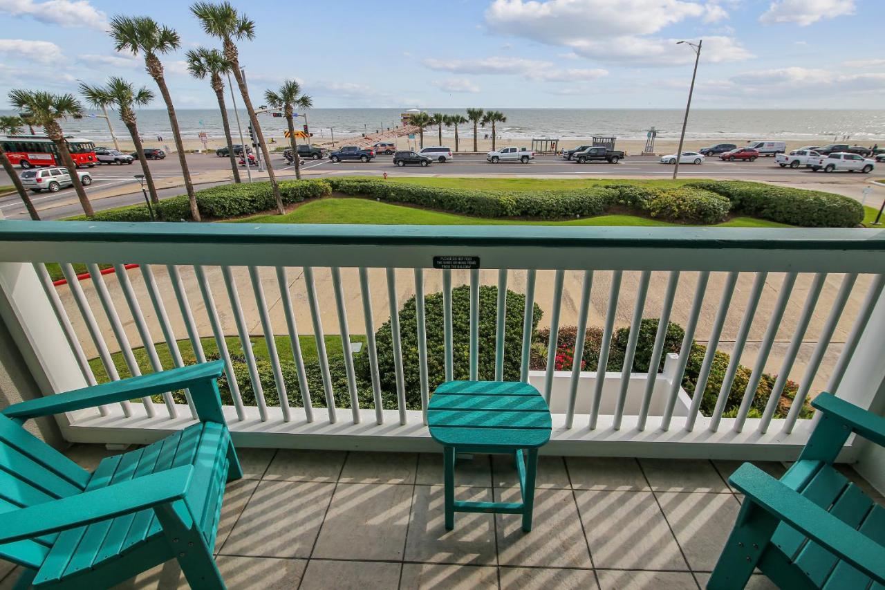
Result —
[[885, 583], [885, 547], [750, 463], [728, 478], [759, 508]]

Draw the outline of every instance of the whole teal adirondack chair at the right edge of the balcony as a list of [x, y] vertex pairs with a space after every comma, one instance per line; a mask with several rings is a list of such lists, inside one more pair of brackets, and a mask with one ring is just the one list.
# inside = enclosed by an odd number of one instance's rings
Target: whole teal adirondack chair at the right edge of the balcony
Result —
[[821, 393], [822, 413], [780, 481], [744, 463], [745, 499], [708, 588], [743, 588], [756, 567], [781, 588], [885, 587], [885, 508], [833, 468], [852, 433], [885, 446], [885, 418]]

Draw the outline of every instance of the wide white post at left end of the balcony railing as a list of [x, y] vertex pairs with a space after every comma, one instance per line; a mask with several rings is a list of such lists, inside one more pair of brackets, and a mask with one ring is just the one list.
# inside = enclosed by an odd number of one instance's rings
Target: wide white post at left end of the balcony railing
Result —
[[[44, 395], [88, 385], [30, 263], [0, 262], [0, 322]], [[59, 418], [59, 426], [67, 423]]]

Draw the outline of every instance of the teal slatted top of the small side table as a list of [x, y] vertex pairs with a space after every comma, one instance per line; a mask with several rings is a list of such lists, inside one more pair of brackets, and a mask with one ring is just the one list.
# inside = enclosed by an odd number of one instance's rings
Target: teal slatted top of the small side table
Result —
[[427, 423], [448, 446], [532, 448], [550, 440], [550, 408], [521, 382], [447, 381], [430, 399]]

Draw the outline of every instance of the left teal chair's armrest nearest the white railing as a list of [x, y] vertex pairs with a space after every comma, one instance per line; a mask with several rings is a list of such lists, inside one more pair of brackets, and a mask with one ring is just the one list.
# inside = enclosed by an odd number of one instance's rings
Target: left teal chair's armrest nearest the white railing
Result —
[[[195, 385], [206, 384], [217, 379], [224, 372], [223, 361], [204, 362], [178, 369], [169, 369], [150, 373], [139, 377], [129, 377], [111, 383], [93, 385], [74, 390], [73, 392], [48, 395], [36, 400], [22, 401], [3, 410], [9, 418], [28, 420], [43, 415], [61, 414], [83, 408], [95, 408], [118, 401], [146, 398], [157, 393], [171, 392], [176, 389], [194, 388]], [[198, 388], [201, 390], [215, 388]], [[193, 393], [193, 392], [192, 392]], [[215, 398], [218, 393], [215, 392]], [[207, 404], [208, 400], [200, 400]], [[195, 400], [197, 406], [200, 404]], [[220, 400], [217, 404], [220, 414]]]

